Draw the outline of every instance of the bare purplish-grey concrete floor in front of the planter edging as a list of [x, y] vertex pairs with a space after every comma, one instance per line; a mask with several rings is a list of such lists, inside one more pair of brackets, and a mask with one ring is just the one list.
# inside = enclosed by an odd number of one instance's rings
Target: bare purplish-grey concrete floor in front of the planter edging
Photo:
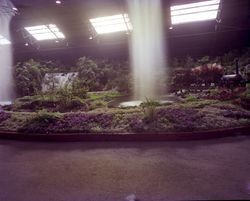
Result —
[[153, 143], [0, 141], [1, 201], [250, 199], [250, 138]]

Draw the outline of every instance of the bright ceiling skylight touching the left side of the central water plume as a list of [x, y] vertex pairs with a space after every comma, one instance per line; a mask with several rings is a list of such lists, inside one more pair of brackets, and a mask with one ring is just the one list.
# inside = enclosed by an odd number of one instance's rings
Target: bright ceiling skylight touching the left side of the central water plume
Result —
[[97, 34], [126, 32], [132, 30], [128, 14], [99, 17], [89, 20]]

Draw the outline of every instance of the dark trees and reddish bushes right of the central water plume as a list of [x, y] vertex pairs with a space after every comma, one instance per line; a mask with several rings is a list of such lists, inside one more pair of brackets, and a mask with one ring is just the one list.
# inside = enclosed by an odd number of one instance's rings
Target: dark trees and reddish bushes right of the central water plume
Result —
[[235, 73], [236, 59], [239, 61], [240, 73], [246, 76], [245, 67], [250, 64], [250, 48], [232, 50], [214, 58], [209, 56], [198, 59], [190, 56], [186, 58], [174, 58], [171, 62], [171, 66], [174, 67], [172, 84], [177, 88], [190, 86], [190, 84], [216, 84], [220, 81], [223, 74]]

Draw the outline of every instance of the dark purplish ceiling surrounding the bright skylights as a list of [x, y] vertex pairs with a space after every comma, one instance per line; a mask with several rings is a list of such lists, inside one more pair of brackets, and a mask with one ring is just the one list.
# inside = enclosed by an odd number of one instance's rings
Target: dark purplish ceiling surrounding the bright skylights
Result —
[[[196, 0], [197, 1], [197, 0]], [[127, 12], [126, 0], [12, 0], [19, 14], [11, 23], [11, 33], [16, 60], [31, 57], [75, 59], [83, 55], [127, 57], [128, 35], [110, 34], [93, 40], [88, 19]], [[234, 48], [250, 46], [250, 1], [223, 0], [222, 22], [189, 23], [169, 30], [169, 6], [184, 0], [164, 0], [166, 45], [169, 54], [194, 57], [218, 55]], [[36, 42], [27, 37], [23, 27], [56, 24], [66, 36], [64, 41]], [[215, 28], [217, 26], [217, 29]], [[32, 43], [29, 46], [24, 44]]]

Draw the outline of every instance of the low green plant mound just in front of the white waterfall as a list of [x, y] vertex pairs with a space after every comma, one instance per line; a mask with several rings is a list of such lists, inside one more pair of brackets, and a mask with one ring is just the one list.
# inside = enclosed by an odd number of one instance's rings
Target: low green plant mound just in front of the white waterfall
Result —
[[15, 100], [10, 110], [35, 112], [48, 110], [49, 112], [75, 112], [90, 111], [97, 108], [105, 108], [114, 98], [119, 97], [118, 92], [87, 93], [83, 89], [81, 93], [73, 88], [62, 88], [50, 93], [41, 93], [36, 96], [25, 96]]

